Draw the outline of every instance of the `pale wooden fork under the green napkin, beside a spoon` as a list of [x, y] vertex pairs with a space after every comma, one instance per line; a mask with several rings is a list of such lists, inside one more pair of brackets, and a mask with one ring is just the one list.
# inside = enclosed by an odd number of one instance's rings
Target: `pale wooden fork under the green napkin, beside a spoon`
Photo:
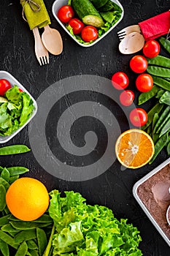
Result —
[[42, 39], [39, 34], [39, 29], [35, 27], [32, 29], [35, 39], [35, 53], [36, 59], [39, 61], [40, 66], [49, 64], [48, 51], [42, 43]]

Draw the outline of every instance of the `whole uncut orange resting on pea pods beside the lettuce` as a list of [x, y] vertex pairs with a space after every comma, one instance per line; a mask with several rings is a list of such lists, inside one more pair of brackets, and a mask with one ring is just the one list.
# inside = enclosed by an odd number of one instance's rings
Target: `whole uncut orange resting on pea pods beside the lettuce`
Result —
[[18, 219], [31, 221], [38, 219], [49, 206], [50, 197], [41, 181], [35, 178], [18, 178], [6, 194], [9, 211]]

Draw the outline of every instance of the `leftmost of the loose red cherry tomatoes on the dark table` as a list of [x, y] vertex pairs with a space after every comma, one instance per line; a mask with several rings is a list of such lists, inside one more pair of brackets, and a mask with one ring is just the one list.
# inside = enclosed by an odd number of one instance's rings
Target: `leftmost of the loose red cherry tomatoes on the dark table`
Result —
[[124, 72], [119, 71], [112, 75], [112, 86], [114, 86], [115, 89], [123, 90], [128, 86], [128, 83], [128, 75]]

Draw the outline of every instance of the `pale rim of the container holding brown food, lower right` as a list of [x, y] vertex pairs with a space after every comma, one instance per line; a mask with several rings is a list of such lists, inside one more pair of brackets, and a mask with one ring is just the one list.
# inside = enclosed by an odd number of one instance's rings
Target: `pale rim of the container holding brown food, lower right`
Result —
[[[141, 198], [139, 197], [139, 193], [138, 193], [138, 189], [139, 186], [141, 186], [142, 184], [144, 184], [145, 181], [148, 181], [150, 178], [152, 178], [152, 176], [156, 175], [157, 173], [161, 172], [161, 170], [163, 169], [163, 167], [166, 167], [166, 165], [169, 165], [170, 163], [170, 158], [167, 159], [165, 162], [163, 162], [161, 165], [159, 165], [158, 167], [156, 167], [154, 170], [152, 170], [150, 173], [148, 173], [146, 176], [144, 176], [143, 178], [141, 178], [139, 181], [136, 182], [136, 184], [134, 184], [133, 187], [133, 194], [134, 197], [136, 198], [137, 202], [139, 203], [139, 206], [142, 207], [143, 211], [145, 214], [147, 214], [147, 217], [150, 219], [150, 221], [152, 222], [152, 224], [155, 226], [155, 228], [158, 230], [158, 232], [161, 234], [161, 236], [163, 237], [163, 239], [166, 241], [166, 243], [170, 246], [170, 239], [168, 236], [166, 236], [166, 233], [163, 232], [163, 229], [161, 228], [160, 225], [158, 225], [158, 222], [155, 220], [155, 218], [152, 216], [152, 214], [150, 213], [150, 211], [147, 209], [147, 206], [144, 205], [143, 201], [141, 200]], [[150, 192], [151, 192], [151, 188], [150, 188]], [[168, 223], [167, 223], [168, 225]], [[170, 226], [169, 226], [169, 230], [170, 230]]]

